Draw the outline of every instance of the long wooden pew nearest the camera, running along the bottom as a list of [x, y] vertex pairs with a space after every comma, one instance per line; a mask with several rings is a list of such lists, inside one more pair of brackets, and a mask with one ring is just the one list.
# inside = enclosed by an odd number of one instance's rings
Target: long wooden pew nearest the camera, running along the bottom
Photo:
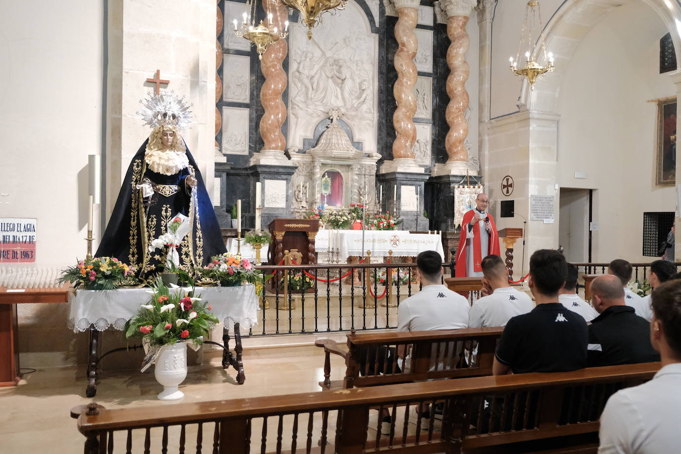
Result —
[[[599, 416], [609, 395], [650, 380], [659, 368], [660, 363], [642, 363], [170, 407], [106, 410], [93, 403], [78, 416], [78, 430], [86, 437], [85, 454], [140, 452], [142, 447], [149, 452], [152, 446], [153, 452], [193, 453], [201, 449], [230, 454], [258, 448], [263, 453], [296, 449], [364, 453], [376, 448], [396, 453], [549, 449], [593, 453]], [[489, 417], [479, 411], [484, 408], [481, 398], [492, 402]], [[520, 403], [522, 399], [525, 405]], [[409, 415], [409, 408], [419, 404], [433, 408], [436, 402], [444, 402], [443, 420], [431, 418], [427, 429], [420, 428], [421, 417], [412, 418], [411, 423], [409, 417], [400, 419], [405, 409]], [[381, 422], [373, 408], [392, 411], [395, 422], [389, 435], [381, 435]], [[495, 422], [494, 415], [501, 421]], [[489, 430], [484, 430], [485, 426]]]

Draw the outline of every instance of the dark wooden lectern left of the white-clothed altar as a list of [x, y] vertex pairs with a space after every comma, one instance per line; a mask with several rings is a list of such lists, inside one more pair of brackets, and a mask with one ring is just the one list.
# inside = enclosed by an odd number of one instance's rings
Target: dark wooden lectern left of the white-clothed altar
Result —
[[316, 219], [274, 219], [269, 225], [274, 241], [268, 250], [270, 265], [279, 265], [284, 259], [284, 250], [298, 249], [302, 253], [302, 263], [299, 265], [314, 265], [315, 237], [319, 231], [319, 221]]

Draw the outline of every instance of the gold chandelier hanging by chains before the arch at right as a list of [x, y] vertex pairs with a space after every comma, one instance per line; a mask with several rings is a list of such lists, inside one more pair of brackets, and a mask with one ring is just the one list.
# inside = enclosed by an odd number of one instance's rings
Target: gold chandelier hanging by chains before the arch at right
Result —
[[[533, 35], [533, 31], [537, 31]], [[533, 39], [533, 36], [535, 38]], [[538, 36], [538, 37], [537, 37]], [[524, 67], [518, 67], [518, 60], [522, 51], [525, 56]], [[541, 11], [539, 10], [539, 1], [530, 0], [525, 7], [525, 19], [522, 22], [520, 29], [520, 43], [518, 44], [518, 54], [516, 60], [513, 57], [509, 59], [511, 64], [509, 69], [518, 76], [527, 78], [530, 84], [530, 89], [535, 89], [535, 82], [542, 74], [554, 70], [554, 58], [551, 52], [546, 53], [546, 44], [544, 42], [543, 23], [541, 22]], [[540, 64], [541, 63], [541, 64]]]

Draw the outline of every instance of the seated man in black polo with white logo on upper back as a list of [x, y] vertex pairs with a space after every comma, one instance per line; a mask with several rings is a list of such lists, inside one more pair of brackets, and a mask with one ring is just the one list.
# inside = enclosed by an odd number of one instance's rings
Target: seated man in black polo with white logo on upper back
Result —
[[558, 303], [567, 262], [557, 250], [530, 257], [528, 285], [537, 307], [509, 320], [496, 348], [492, 374], [565, 372], [586, 367], [586, 321]]

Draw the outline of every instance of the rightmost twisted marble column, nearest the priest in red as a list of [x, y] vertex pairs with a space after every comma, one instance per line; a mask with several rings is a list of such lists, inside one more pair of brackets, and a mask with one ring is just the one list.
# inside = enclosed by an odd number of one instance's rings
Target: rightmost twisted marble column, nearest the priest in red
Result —
[[476, 3], [475, 0], [444, 0], [441, 3], [443, 10], [447, 13], [447, 36], [451, 42], [447, 49], [447, 65], [449, 66], [446, 85], [449, 104], [445, 112], [445, 120], [449, 125], [449, 131], [445, 137], [445, 149], [449, 157], [447, 163], [465, 164], [469, 159], [468, 150], [464, 145], [469, 132], [468, 120], [465, 117], [469, 106], [466, 80], [471, 73], [466, 61], [466, 52], [471, 44], [471, 39], [466, 32], [466, 24]]

